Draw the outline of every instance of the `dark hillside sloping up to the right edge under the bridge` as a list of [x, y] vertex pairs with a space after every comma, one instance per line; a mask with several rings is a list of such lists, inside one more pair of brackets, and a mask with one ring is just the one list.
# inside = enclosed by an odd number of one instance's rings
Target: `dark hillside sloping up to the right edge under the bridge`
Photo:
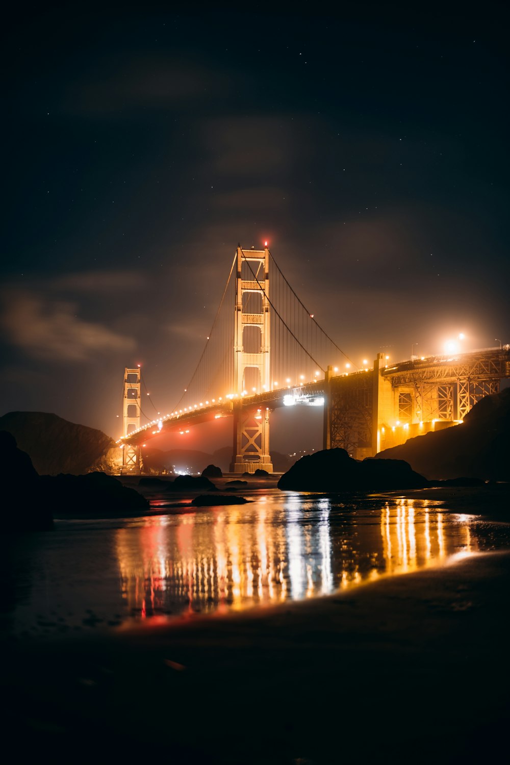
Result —
[[486, 396], [462, 425], [410, 438], [376, 458], [404, 460], [429, 479], [510, 480], [510, 388]]

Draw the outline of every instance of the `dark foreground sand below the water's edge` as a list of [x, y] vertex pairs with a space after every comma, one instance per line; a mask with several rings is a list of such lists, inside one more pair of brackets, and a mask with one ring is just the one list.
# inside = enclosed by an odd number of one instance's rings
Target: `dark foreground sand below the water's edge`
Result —
[[17, 760], [506, 757], [510, 555], [95, 640], [4, 646]]

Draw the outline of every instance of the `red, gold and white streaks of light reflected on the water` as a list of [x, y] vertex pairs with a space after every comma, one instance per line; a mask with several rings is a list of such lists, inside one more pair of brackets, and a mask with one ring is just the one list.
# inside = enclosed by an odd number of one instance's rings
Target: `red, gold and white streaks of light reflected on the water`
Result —
[[145, 519], [136, 534], [118, 529], [128, 610], [146, 618], [316, 597], [478, 549], [472, 517], [446, 516], [424, 500], [358, 510], [302, 495], [283, 508], [264, 500]]

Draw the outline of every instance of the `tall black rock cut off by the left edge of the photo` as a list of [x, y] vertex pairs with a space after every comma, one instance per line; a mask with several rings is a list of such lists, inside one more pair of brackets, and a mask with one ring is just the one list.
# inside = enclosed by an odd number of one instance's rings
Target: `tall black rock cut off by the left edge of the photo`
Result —
[[41, 501], [40, 477], [11, 433], [0, 431], [2, 524], [0, 531], [47, 531], [53, 528], [50, 506]]

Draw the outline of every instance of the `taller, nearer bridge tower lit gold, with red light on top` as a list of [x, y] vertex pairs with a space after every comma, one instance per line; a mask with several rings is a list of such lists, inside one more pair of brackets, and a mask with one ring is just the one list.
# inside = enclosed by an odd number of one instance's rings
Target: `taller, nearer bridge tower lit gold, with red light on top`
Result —
[[273, 466], [269, 409], [250, 408], [249, 396], [270, 389], [269, 250], [237, 248], [234, 322], [234, 444], [232, 473]]

